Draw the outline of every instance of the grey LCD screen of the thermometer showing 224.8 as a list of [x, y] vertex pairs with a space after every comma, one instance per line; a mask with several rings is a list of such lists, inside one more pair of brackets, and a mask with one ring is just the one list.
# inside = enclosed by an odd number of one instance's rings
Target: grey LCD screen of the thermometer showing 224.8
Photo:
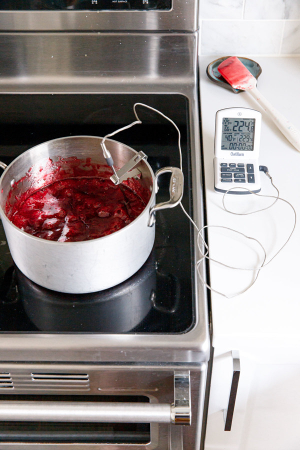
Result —
[[254, 118], [223, 117], [221, 150], [252, 151], [254, 132]]

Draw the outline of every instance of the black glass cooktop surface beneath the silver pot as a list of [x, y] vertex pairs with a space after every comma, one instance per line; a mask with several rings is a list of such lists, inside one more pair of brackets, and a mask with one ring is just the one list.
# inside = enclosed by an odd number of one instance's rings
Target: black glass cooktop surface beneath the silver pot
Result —
[[[0, 95], [0, 160], [8, 164], [35, 144], [68, 135], [103, 136], [134, 120], [146, 103], [170, 117], [181, 132], [184, 194], [191, 213], [188, 102], [173, 94]], [[154, 172], [179, 166], [177, 132], [145, 108], [141, 125], [115, 140], [148, 155]], [[156, 201], [168, 198], [160, 177]], [[13, 264], [0, 227], [0, 332], [182, 333], [193, 325], [192, 229], [181, 208], [156, 213], [155, 242], [145, 264], [117, 286], [89, 294], [63, 294], [26, 278]], [[137, 242], [138, 245], [138, 242]]]

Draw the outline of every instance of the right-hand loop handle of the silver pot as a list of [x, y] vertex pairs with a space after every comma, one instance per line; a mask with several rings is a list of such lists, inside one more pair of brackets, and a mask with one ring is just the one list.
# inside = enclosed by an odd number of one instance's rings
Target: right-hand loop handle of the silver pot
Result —
[[155, 223], [155, 212], [159, 209], [172, 208], [176, 206], [182, 198], [183, 194], [183, 173], [178, 167], [162, 167], [155, 173], [155, 192], [158, 190], [158, 177], [162, 173], [170, 172], [169, 193], [170, 198], [167, 201], [155, 204], [149, 212], [148, 226]]

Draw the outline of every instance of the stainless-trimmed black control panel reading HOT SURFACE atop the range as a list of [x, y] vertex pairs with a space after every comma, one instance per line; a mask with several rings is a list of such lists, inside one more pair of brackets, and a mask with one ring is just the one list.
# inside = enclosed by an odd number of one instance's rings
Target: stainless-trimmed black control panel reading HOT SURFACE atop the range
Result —
[[195, 31], [196, 0], [0, 0], [5, 31]]

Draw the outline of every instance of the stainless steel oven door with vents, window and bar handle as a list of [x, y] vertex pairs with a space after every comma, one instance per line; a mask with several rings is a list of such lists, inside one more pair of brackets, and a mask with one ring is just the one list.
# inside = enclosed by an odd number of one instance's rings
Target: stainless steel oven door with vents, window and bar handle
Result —
[[203, 369], [3, 366], [1, 450], [198, 448]]

